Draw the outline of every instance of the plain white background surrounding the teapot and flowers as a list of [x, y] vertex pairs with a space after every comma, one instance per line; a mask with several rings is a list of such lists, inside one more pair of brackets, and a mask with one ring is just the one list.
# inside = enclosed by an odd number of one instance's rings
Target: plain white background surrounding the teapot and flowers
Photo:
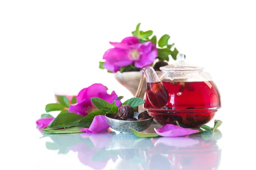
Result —
[[253, 169], [255, 7], [253, 0], [0, 0], [1, 166], [35, 169], [50, 156], [35, 121], [55, 101], [54, 89], [77, 93], [99, 82], [132, 97], [98, 66], [108, 42], [131, 36], [141, 22], [158, 39], [169, 34], [187, 61], [206, 68], [218, 86], [220, 169]]

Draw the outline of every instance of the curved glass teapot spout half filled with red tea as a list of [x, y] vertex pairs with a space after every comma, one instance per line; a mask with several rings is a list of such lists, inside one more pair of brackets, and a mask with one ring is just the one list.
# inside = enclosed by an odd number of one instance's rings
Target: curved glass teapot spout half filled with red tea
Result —
[[142, 69], [147, 81], [148, 100], [154, 108], [163, 108], [168, 100], [169, 94], [163, 82], [160, 81], [157, 73], [152, 67]]

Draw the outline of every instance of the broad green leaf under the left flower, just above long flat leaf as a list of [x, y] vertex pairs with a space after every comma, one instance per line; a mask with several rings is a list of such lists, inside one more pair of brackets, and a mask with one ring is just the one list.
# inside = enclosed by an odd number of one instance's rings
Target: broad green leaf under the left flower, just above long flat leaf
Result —
[[55, 117], [47, 129], [60, 129], [64, 127], [79, 126], [79, 121], [84, 118], [76, 113], [62, 113]]

